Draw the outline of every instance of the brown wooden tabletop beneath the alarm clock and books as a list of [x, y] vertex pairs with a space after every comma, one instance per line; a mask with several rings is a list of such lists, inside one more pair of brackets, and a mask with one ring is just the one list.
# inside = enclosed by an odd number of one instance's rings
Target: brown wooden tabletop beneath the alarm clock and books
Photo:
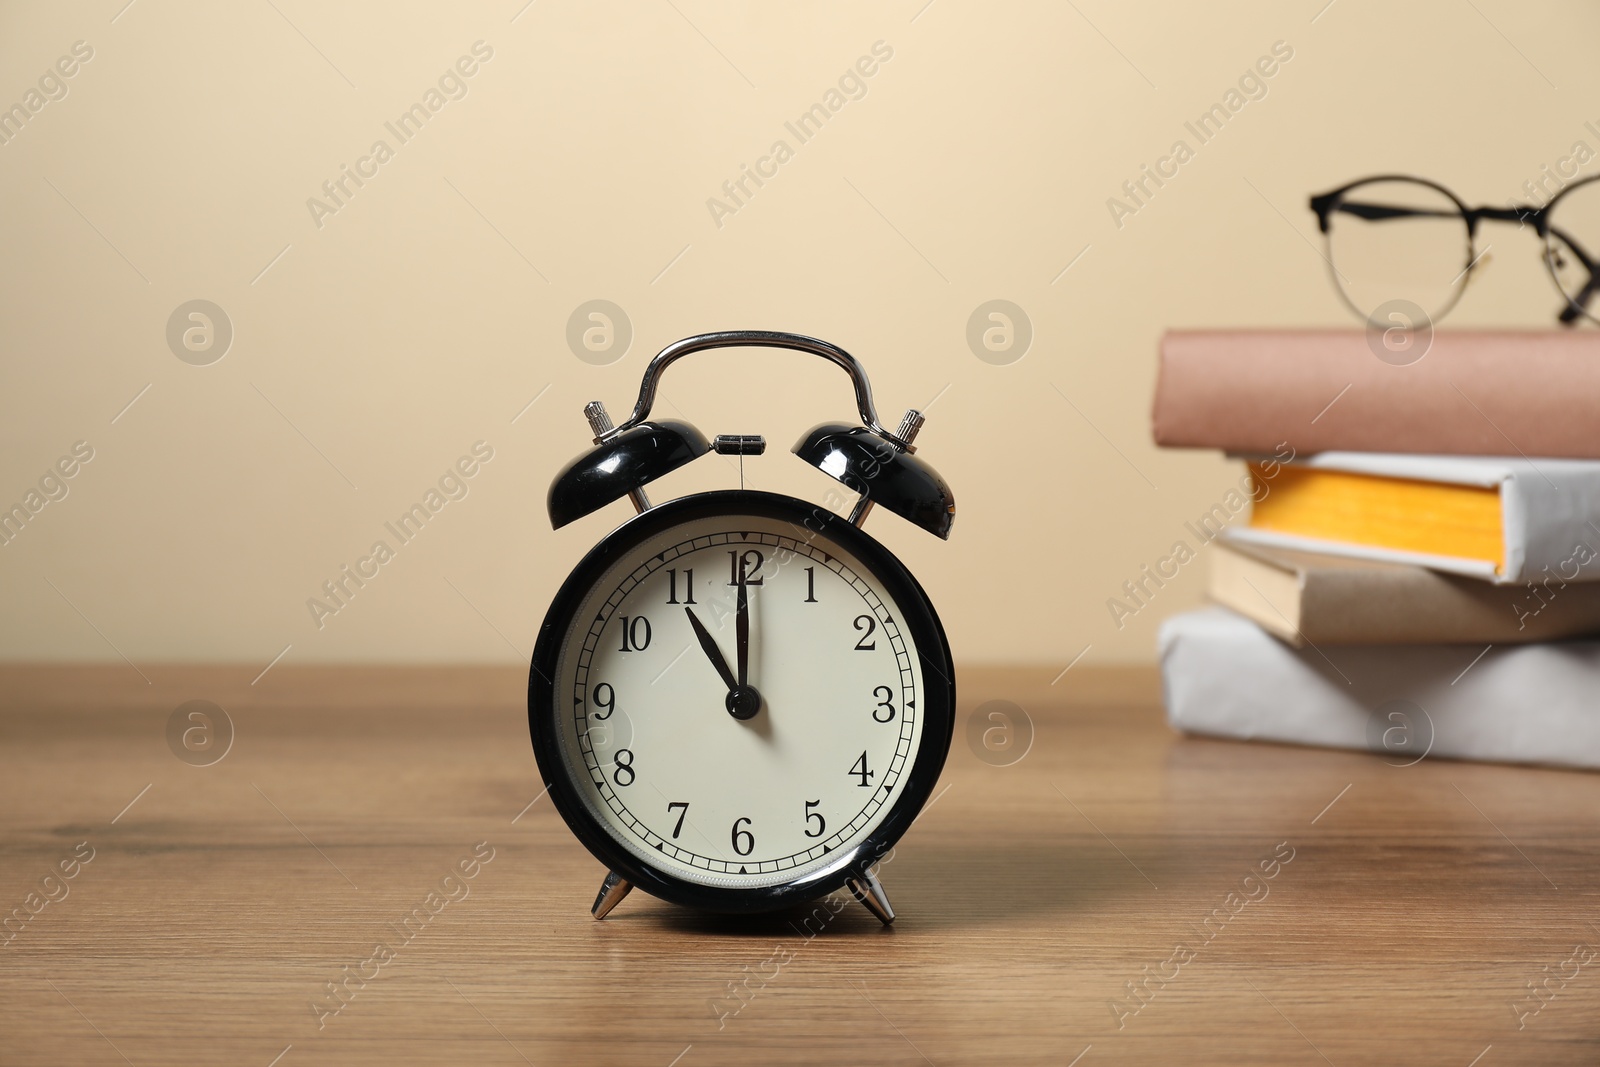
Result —
[[[1184, 739], [1150, 672], [970, 670], [963, 725], [1010, 699], [1035, 739], [958, 729], [893, 929], [597, 923], [522, 672], [254, 672], [0, 670], [0, 907], [59, 897], [10, 912], [0, 1062], [1600, 1061], [1592, 774]], [[168, 747], [189, 699], [234, 723], [211, 766]]]

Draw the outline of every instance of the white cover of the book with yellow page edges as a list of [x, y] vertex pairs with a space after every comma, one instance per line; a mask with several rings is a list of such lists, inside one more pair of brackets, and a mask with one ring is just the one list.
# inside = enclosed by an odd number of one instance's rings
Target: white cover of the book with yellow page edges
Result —
[[[1242, 459], [1251, 458], [1242, 456]], [[1256, 525], [1256, 515], [1251, 517], [1251, 525], [1230, 526], [1227, 530], [1230, 539], [1274, 549], [1408, 563], [1509, 585], [1528, 581], [1541, 584], [1600, 581], [1600, 461], [1318, 453], [1272, 469], [1331, 470], [1402, 483], [1430, 482], [1491, 490], [1499, 494], [1504, 558], [1464, 558], [1264, 530]], [[1274, 488], [1270, 477], [1262, 478], [1258, 474], [1258, 499], [1269, 499]]]

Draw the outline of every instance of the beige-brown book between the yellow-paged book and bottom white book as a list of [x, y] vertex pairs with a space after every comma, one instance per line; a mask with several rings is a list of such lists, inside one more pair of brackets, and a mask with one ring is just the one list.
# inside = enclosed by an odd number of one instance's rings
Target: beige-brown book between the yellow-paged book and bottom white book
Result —
[[1405, 563], [1213, 542], [1206, 595], [1296, 648], [1512, 645], [1600, 633], [1600, 582], [1493, 585]]

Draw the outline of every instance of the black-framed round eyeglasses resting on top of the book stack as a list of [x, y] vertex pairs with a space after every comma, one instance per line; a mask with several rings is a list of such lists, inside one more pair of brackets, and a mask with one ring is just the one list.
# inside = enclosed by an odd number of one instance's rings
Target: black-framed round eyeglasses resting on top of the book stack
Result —
[[1478, 222], [1533, 226], [1544, 242], [1544, 266], [1565, 299], [1563, 326], [1600, 322], [1600, 174], [1565, 186], [1539, 205], [1469, 208], [1437, 182], [1405, 174], [1363, 178], [1310, 198], [1328, 242], [1328, 266], [1339, 296], [1374, 328], [1397, 312], [1437, 323], [1461, 299], [1472, 272], [1493, 248], [1478, 251]]

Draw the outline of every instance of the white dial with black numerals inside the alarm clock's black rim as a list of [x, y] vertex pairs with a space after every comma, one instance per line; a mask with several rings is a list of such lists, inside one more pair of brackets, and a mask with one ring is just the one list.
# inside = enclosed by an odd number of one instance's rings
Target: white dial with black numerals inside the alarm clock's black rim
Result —
[[[750, 718], [690, 614], [738, 670], [746, 568]], [[883, 821], [922, 744], [922, 657], [850, 552], [792, 523], [672, 526], [613, 563], [573, 614], [554, 681], [562, 761], [606, 832], [707, 886], [790, 883]]]

